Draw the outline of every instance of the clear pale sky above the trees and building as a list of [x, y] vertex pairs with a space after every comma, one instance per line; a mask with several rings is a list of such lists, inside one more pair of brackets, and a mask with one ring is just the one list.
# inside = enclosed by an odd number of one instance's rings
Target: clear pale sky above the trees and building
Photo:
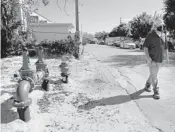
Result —
[[[55, 23], [72, 23], [75, 26], [75, 0], [50, 0], [47, 6], [39, 5], [38, 13]], [[58, 6], [59, 5], [59, 6]], [[83, 32], [110, 32], [122, 22], [147, 12], [163, 12], [163, 0], [79, 0], [79, 27]]]

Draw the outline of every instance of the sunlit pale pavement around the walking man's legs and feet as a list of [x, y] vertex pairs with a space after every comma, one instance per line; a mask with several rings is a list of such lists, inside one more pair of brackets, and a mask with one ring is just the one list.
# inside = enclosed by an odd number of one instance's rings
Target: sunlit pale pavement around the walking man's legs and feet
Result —
[[[148, 67], [140, 65], [135, 68], [120, 68], [123, 75], [127, 76], [128, 81], [138, 90], [144, 87], [149, 75]], [[152, 98], [136, 100], [144, 115], [151, 122], [165, 132], [175, 131], [175, 67], [162, 67], [159, 72], [160, 100]], [[125, 87], [130, 93], [132, 89]], [[152, 95], [143, 93], [142, 96]]]

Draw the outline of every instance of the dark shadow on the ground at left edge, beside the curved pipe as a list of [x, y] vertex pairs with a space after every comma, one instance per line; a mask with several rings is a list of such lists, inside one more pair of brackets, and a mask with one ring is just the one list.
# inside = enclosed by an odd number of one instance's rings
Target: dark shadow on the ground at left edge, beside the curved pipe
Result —
[[10, 123], [18, 119], [18, 113], [12, 110], [13, 99], [10, 98], [1, 103], [1, 124]]

